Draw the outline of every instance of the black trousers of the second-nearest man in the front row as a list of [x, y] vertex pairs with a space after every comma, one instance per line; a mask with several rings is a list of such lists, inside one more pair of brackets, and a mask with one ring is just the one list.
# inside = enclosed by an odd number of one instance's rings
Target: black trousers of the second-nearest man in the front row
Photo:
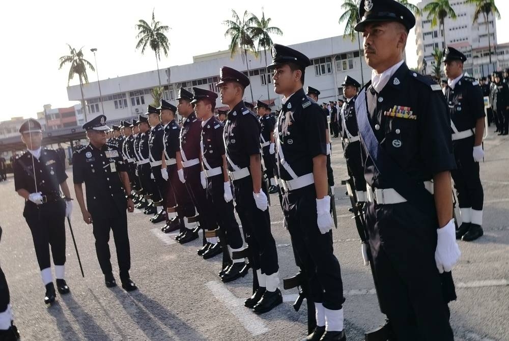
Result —
[[315, 186], [284, 193], [282, 209], [296, 263], [305, 270], [313, 302], [341, 309], [345, 298], [340, 263], [333, 253], [332, 232], [322, 235], [318, 229]]

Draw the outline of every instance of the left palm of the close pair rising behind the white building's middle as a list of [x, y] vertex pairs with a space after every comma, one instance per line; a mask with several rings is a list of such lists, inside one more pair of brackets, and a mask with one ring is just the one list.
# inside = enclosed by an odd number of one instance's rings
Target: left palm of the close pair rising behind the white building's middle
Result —
[[[249, 77], [249, 62], [247, 59], [247, 52], [252, 52], [255, 56], [258, 54], [256, 52], [256, 48], [254, 47], [254, 40], [251, 35], [251, 30], [249, 29], [249, 22], [252, 18], [252, 14], [244, 11], [244, 16], [240, 19], [239, 15], [235, 10], [232, 10], [232, 19], [233, 20], [224, 20], [223, 23], [228, 26], [228, 30], [224, 33], [225, 37], [230, 37], [230, 49], [232, 51], [231, 57], [235, 55], [235, 53], [241, 50], [242, 61], [246, 62], [247, 65], [247, 76]], [[251, 91], [251, 102], [254, 102], [253, 98], [253, 90], [252, 87], [249, 87]]]

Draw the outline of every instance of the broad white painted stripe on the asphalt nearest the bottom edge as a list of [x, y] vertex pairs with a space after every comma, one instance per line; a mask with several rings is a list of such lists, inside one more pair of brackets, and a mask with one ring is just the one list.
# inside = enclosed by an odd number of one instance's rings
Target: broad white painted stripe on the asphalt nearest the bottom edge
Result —
[[207, 282], [205, 286], [212, 292], [217, 300], [228, 307], [230, 312], [252, 336], [258, 336], [269, 331], [269, 328], [267, 328], [265, 322], [261, 318], [244, 307], [244, 300], [232, 294], [223, 283], [211, 280]]

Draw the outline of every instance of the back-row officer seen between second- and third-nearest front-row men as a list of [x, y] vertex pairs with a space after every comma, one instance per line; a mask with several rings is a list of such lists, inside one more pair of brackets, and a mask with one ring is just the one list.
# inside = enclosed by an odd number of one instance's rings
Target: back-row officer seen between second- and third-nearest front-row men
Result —
[[268, 191], [270, 194], [277, 193], [277, 183], [274, 173], [277, 174], [275, 144], [274, 144], [274, 125], [276, 120], [270, 115], [270, 106], [262, 101], [257, 102], [257, 114], [259, 116], [262, 133], [260, 134], [260, 145], [262, 147], [263, 163], [265, 165], [265, 175], [270, 181]]

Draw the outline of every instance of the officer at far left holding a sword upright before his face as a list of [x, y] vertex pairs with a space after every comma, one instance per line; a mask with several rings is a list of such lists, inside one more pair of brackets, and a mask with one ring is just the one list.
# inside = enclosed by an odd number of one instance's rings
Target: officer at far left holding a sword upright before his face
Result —
[[23, 122], [19, 132], [27, 151], [14, 162], [14, 188], [25, 199], [23, 216], [32, 232], [42, 283], [46, 287], [44, 303], [52, 304], [55, 288], [49, 259], [50, 246], [56, 289], [60, 294], [69, 293], [64, 279], [64, 219], [71, 216], [72, 199], [59, 156], [56, 151], [41, 147], [42, 130], [39, 122], [29, 119]]

